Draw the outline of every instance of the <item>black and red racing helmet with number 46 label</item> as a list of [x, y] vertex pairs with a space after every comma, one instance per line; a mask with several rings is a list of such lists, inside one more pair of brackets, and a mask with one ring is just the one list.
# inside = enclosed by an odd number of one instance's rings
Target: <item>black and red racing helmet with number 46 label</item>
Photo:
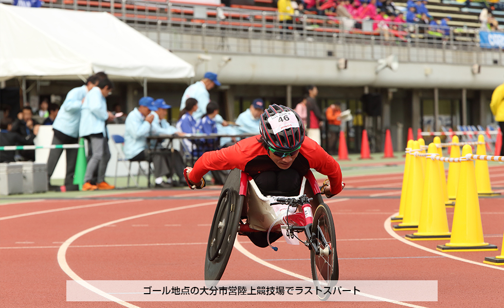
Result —
[[261, 115], [259, 131], [269, 148], [292, 152], [301, 147], [304, 140], [304, 124], [299, 114], [289, 107], [269, 105]]

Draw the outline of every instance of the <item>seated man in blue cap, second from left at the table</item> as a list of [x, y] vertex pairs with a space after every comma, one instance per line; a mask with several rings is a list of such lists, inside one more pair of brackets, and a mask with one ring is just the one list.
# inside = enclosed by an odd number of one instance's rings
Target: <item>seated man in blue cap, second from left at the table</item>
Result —
[[[167, 105], [165, 100], [157, 99], [154, 101], [154, 104], [157, 107], [156, 111], [152, 111], [151, 114], [154, 115], [154, 121], [152, 121], [152, 134], [160, 135], [160, 134], [177, 134], [179, 136], [184, 136], [185, 133], [179, 132], [174, 126], [170, 125], [168, 121], [166, 121], [166, 116], [168, 114], [168, 109], [171, 108], [170, 105]], [[186, 165], [184, 164], [184, 160], [182, 159], [182, 155], [175, 149], [171, 149], [170, 153], [167, 156], [168, 166], [170, 169], [178, 176], [179, 179], [184, 179], [184, 168]], [[173, 184], [174, 186], [184, 185], [184, 181], [173, 182], [171, 177], [167, 176], [168, 184]], [[156, 178], [156, 184], [160, 183], [163, 185], [162, 178]]]

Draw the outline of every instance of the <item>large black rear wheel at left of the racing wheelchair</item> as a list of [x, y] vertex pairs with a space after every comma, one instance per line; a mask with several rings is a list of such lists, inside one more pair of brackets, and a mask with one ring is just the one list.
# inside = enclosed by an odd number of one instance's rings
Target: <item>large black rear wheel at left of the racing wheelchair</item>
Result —
[[217, 285], [235, 244], [244, 200], [244, 196], [238, 194], [239, 183], [240, 170], [232, 170], [215, 208], [205, 256], [207, 286]]

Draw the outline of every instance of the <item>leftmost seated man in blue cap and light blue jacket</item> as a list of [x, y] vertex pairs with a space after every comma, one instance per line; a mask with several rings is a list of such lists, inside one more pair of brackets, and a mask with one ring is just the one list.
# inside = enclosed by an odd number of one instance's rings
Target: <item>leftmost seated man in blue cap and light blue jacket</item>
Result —
[[[154, 99], [143, 97], [138, 101], [138, 108], [133, 109], [128, 114], [124, 122], [124, 156], [130, 161], [147, 161], [150, 154], [147, 149], [147, 137], [151, 134], [154, 114], [151, 111], [157, 111]], [[152, 156], [154, 163], [154, 176], [156, 177], [156, 187], [169, 187], [163, 183], [163, 176], [170, 173], [166, 157], [160, 155]], [[160, 181], [158, 180], [160, 179]]]

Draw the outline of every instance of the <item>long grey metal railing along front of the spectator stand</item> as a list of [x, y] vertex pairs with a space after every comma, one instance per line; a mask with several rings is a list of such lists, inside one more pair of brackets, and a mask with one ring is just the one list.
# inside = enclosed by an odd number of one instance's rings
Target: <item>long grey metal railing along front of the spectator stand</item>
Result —
[[[481, 48], [479, 29], [464, 27], [317, 15], [295, 15], [289, 16], [291, 21], [280, 21], [276, 11], [137, 0], [57, 0], [44, 7], [110, 12], [139, 31], [155, 33], [155, 41], [170, 50], [286, 52], [314, 57], [344, 55], [348, 59], [378, 59], [393, 51], [399, 53], [400, 61], [408, 62], [503, 63], [502, 50]], [[276, 46], [278, 42], [290, 45]], [[324, 52], [316, 51], [320, 46]]]

